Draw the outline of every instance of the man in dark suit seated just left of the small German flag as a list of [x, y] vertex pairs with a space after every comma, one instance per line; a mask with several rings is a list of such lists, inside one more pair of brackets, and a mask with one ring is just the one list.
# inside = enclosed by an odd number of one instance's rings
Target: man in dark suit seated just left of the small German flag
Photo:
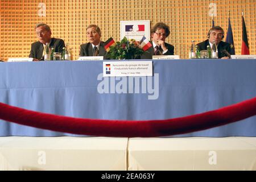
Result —
[[101, 30], [96, 24], [90, 24], [86, 28], [86, 37], [89, 43], [80, 45], [80, 56], [104, 56], [108, 52], [105, 51], [104, 42], [101, 41]]

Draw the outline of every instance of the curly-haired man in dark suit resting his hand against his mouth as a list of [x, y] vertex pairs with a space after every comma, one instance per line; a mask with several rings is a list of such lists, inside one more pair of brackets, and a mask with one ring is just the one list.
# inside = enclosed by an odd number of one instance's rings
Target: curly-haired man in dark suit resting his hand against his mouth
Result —
[[152, 47], [141, 55], [141, 59], [152, 59], [153, 55], [174, 55], [174, 46], [165, 42], [170, 35], [170, 27], [159, 22], [150, 31]]

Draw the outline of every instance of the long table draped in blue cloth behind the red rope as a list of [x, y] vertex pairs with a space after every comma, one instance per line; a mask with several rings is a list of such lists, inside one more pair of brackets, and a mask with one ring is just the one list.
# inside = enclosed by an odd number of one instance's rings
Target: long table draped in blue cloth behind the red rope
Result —
[[[0, 102], [70, 117], [148, 120], [203, 113], [256, 96], [256, 60], [153, 60], [153, 67], [153, 77], [102, 78], [102, 61], [0, 63]], [[250, 117], [172, 137], [256, 137], [255, 122]], [[0, 136], [81, 135], [0, 121]]]

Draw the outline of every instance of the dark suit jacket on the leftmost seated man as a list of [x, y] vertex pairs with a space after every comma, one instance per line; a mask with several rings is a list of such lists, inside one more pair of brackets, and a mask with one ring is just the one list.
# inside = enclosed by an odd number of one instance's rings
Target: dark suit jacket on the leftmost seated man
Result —
[[[49, 47], [54, 47], [55, 52], [62, 52], [63, 47], [65, 47], [65, 43], [62, 39], [51, 38], [51, 43], [49, 44]], [[38, 60], [44, 60], [43, 52], [43, 43], [40, 43], [39, 41], [34, 42], [31, 44], [31, 51], [28, 57], [33, 57]]]

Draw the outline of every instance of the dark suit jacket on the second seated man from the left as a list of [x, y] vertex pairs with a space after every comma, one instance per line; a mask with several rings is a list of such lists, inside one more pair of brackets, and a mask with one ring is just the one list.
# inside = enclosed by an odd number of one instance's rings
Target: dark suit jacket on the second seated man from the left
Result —
[[[106, 52], [104, 48], [104, 42], [101, 41], [100, 47], [98, 49], [98, 56], [104, 56], [104, 59], [106, 58], [106, 55], [108, 52]], [[93, 47], [92, 43], [86, 43], [86, 44], [81, 44], [80, 45], [80, 56], [93, 56]]]

